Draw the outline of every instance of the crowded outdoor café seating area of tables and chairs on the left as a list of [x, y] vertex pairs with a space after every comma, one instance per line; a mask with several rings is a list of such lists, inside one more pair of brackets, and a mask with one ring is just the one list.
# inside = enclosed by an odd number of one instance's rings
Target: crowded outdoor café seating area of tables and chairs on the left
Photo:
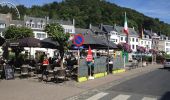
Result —
[[[0, 65], [0, 77], [1, 79], [6, 78], [5, 65]], [[53, 64], [49, 64], [44, 66], [42, 63], [38, 63], [36, 65], [31, 64], [23, 64], [21, 67], [14, 67], [13, 65], [8, 65], [13, 71], [14, 78], [16, 78], [16, 74], [19, 75], [19, 78], [31, 78], [38, 79], [38, 81], [45, 82], [64, 82], [67, 80], [75, 79], [77, 74], [77, 67], [70, 68], [61, 68], [59, 66], [55, 66]], [[43, 72], [43, 67], [46, 67]]]

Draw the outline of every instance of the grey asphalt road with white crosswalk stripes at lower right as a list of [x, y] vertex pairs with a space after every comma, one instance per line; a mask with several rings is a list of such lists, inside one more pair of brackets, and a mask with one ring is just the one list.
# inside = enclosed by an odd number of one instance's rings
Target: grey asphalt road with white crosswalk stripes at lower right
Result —
[[170, 100], [170, 69], [156, 69], [108, 89], [88, 91], [81, 100]]

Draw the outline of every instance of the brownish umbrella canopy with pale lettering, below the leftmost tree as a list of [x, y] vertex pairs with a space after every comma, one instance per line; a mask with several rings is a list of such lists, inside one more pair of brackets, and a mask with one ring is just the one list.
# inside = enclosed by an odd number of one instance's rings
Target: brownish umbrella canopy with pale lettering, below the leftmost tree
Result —
[[19, 46], [19, 47], [40, 47], [41, 41], [34, 37], [26, 37], [16, 41], [10, 41], [10, 46]]

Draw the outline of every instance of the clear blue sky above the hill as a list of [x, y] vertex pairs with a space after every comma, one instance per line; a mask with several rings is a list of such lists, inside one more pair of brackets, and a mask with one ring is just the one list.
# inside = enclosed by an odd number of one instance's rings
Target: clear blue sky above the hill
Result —
[[[53, 1], [60, 2], [62, 0], [0, 0], [9, 1], [16, 5], [23, 4], [27, 7], [32, 5], [43, 5]], [[121, 7], [137, 10], [146, 16], [159, 18], [161, 21], [170, 24], [170, 2], [169, 0], [106, 0], [115, 3]]]

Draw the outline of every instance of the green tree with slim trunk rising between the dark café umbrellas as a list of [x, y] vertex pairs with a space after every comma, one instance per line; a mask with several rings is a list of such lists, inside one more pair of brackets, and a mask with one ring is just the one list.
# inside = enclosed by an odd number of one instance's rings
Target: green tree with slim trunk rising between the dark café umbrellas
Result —
[[45, 32], [52, 38], [52, 40], [57, 41], [59, 43], [59, 53], [61, 57], [61, 68], [63, 68], [63, 57], [65, 51], [69, 47], [69, 33], [64, 33], [64, 29], [58, 23], [48, 24], [45, 27]]

